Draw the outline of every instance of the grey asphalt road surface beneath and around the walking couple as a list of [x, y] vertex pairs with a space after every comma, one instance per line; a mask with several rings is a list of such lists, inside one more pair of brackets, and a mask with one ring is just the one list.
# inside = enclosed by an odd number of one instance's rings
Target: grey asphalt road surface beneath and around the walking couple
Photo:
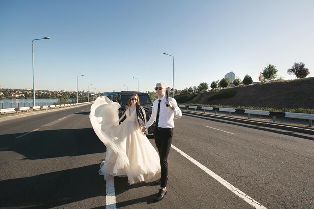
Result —
[[[1, 208], [106, 207], [89, 108], [0, 120]], [[115, 177], [117, 208], [254, 208], [240, 192], [259, 208], [314, 208], [313, 135], [189, 115], [175, 126], [165, 199], [153, 202], [159, 176]]]

